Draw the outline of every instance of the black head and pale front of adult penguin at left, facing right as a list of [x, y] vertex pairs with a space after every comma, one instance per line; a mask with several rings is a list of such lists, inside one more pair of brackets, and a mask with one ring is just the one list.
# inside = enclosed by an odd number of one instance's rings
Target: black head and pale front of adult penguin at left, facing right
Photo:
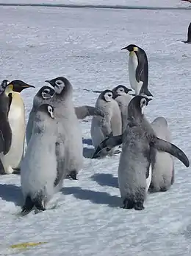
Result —
[[13, 91], [8, 120], [12, 131], [12, 141], [10, 151], [5, 156], [1, 156], [4, 172], [7, 174], [12, 173], [14, 169], [20, 168], [24, 155], [25, 109], [20, 93], [26, 88], [35, 88], [35, 86], [30, 86], [21, 80], [13, 80], [8, 84], [8, 86], [10, 85], [13, 86]]

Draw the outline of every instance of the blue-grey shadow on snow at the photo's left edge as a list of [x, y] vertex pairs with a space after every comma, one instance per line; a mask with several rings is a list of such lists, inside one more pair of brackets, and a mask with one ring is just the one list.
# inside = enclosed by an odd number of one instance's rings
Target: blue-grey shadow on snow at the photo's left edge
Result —
[[23, 202], [21, 187], [14, 184], [0, 184], [0, 198], [5, 201], [12, 201], [16, 206], [21, 206]]

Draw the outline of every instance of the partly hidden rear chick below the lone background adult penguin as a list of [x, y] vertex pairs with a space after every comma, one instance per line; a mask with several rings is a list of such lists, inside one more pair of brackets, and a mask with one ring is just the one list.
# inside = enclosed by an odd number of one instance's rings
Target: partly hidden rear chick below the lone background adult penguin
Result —
[[126, 130], [128, 105], [134, 96], [129, 94], [129, 91], [132, 91], [131, 89], [122, 85], [115, 87], [114, 89], [112, 89], [112, 91], [115, 92], [114, 98], [120, 107], [122, 133], [123, 133]]

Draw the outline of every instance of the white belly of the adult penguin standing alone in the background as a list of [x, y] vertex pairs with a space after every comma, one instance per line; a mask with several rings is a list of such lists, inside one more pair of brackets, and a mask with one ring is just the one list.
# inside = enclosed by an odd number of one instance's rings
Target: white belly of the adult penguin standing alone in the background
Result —
[[143, 85], [142, 81], [137, 83], [137, 80], [136, 80], [137, 66], [138, 66], [137, 55], [134, 52], [131, 52], [129, 54], [129, 82], [131, 84], [131, 88], [134, 89], [136, 95], [140, 93], [140, 89]]

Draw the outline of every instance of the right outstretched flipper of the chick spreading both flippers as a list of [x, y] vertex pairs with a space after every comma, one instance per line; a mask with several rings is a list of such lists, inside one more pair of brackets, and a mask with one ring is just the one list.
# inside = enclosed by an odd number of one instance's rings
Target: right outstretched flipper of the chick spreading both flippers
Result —
[[150, 142], [151, 147], [153, 146], [156, 148], [157, 151], [165, 151], [170, 153], [170, 155], [175, 156], [178, 158], [186, 167], [190, 166], [189, 159], [187, 158], [186, 154], [181, 151], [180, 148], [176, 147], [173, 143], [167, 142], [163, 139], [159, 139], [156, 137], [154, 142]]

